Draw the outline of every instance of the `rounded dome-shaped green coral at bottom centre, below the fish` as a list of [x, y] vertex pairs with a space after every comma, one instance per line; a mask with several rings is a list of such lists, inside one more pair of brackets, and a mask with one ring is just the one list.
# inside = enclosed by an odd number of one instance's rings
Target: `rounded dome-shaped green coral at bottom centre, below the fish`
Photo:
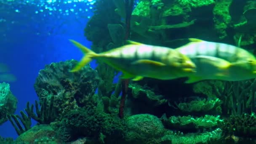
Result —
[[154, 115], [132, 115], [126, 118], [125, 123], [128, 131], [125, 140], [129, 143], [144, 144], [145, 141], [156, 141], [165, 132], [161, 120]]

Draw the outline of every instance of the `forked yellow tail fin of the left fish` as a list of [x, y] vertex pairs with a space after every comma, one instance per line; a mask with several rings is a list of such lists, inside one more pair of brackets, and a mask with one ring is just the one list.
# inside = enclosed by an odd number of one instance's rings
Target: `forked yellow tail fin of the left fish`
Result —
[[73, 45], [75, 45], [77, 48], [79, 48], [83, 53], [85, 53], [85, 56], [70, 72], [79, 71], [82, 67], [88, 64], [94, 57], [98, 55], [97, 53], [91, 51], [89, 48], [86, 48], [84, 45], [78, 43], [75, 40], [69, 40], [69, 41], [73, 43]]

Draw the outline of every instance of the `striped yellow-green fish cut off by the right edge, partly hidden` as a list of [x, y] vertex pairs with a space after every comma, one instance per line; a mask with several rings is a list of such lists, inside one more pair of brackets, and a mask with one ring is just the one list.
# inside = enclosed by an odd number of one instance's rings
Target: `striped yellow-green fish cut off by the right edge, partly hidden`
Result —
[[239, 81], [256, 78], [256, 58], [243, 48], [189, 38], [189, 43], [175, 50], [189, 57], [196, 65], [185, 83], [202, 80]]

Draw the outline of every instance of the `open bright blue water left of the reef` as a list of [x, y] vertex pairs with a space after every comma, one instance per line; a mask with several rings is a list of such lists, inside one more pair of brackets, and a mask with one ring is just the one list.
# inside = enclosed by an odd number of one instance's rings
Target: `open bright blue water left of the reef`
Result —
[[[94, 1], [5, 1], [0, 0], [0, 63], [7, 64], [17, 77], [10, 85], [18, 99], [15, 114], [20, 115], [27, 101], [35, 104], [37, 100], [33, 85], [45, 64], [82, 57], [68, 39], [91, 46], [83, 29], [93, 15]], [[0, 136], [16, 139], [16, 131], [9, 121], [0, 125]]]

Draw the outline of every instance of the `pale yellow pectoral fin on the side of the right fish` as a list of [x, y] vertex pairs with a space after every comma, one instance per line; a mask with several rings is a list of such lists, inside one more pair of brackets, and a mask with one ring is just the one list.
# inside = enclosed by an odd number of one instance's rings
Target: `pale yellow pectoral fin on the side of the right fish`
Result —
[[229, 61], [213, 56], [195, 56], [195, 59], [198, 59], [201, 63], [204, 64], [211, 64], [212, 66], [219, 69], [229, 69], [229, 67], [232, 66]]

